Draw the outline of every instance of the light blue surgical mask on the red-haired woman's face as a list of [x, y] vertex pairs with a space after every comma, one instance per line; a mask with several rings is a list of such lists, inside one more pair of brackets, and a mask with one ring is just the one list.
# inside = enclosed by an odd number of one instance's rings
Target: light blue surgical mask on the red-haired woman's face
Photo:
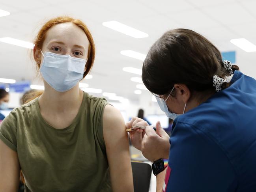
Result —
[[83, 78], [86, 60], [52, 52], [45, 52], [43, 56], [41, 74], [56, 91], [68, 91]]

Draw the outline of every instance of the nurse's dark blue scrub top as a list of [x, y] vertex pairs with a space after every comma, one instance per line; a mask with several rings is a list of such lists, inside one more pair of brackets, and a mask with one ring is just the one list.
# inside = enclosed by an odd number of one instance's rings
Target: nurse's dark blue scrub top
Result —
[[256, 80], [231, 83], [175, 119], [167, 192], [256, 192]]

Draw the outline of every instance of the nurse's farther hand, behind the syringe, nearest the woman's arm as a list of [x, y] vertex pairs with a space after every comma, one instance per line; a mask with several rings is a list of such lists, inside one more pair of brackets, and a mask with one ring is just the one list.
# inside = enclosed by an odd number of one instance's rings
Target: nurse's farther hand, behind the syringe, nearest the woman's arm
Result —
[[[129, 129], [133, 126], [148, 126], [148, 123], [144, 121], [143, 119], [140, 119], [138, 117], [133, 117], [131, 121], [126, 123], [126, 129]], [[135, 128], [133, 131], [129, 131], [129, 137], [131, 140], [131, 144], [138, 150], [141, 151], [141, 144], [142, 144], [142, 139], [144, 137], [145, 129], [139, 129]]]

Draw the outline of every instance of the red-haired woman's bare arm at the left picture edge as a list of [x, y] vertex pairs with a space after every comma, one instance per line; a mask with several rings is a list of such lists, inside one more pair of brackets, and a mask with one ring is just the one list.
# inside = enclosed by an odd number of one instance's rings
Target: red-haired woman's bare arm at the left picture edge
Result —
[[20, 165], [17, 152], [0, 140], [0, 191], [18, 191]]

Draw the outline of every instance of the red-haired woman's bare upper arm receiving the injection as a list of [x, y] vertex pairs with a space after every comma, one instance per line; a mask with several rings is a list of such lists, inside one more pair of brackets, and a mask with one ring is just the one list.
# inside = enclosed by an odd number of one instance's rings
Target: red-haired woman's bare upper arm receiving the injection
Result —
[[103, 113], [103, 136], [113, 191], [133, 191], [128, 135], [121, 113], [107, 105]]

